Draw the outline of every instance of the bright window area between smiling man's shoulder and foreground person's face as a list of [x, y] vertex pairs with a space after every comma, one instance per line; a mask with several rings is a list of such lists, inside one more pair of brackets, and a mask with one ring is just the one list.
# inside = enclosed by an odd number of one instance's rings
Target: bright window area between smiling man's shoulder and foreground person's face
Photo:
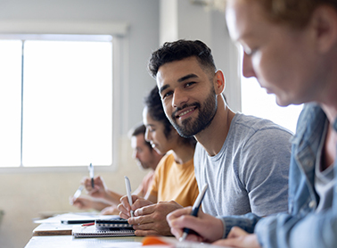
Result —
[[242, 113], [272, 120], [295, 133], [302, 104], [280, 107], [276, 104], [275, 95], [267, 95], [257, 79], [241, 78]]

